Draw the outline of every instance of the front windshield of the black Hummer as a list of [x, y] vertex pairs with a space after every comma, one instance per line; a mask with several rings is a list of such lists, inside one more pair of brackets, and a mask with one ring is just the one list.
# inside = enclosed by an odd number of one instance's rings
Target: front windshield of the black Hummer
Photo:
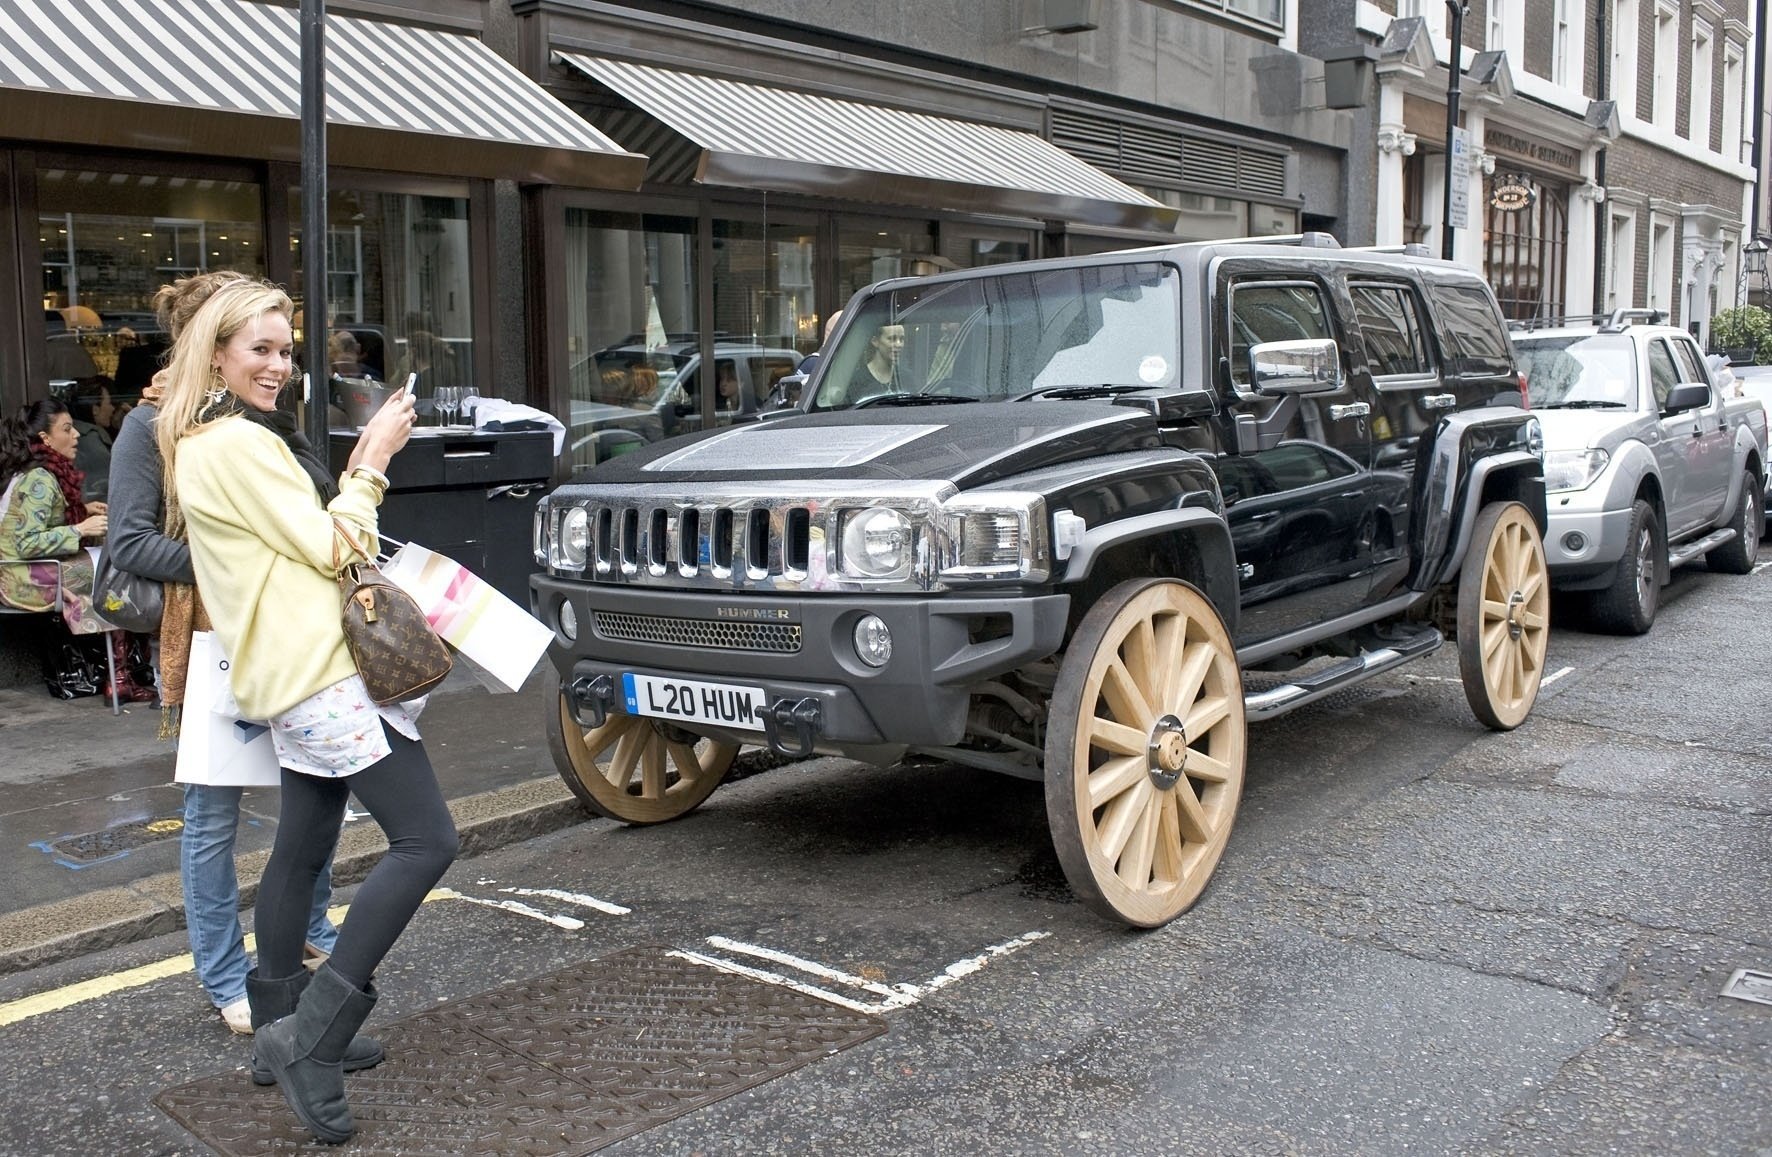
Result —
[[1159, 262], [886, 289], [852, 307], [812, 409], [881, 397], [999, 400], [1056, 386], [1173, 386], [1180, 289]]

